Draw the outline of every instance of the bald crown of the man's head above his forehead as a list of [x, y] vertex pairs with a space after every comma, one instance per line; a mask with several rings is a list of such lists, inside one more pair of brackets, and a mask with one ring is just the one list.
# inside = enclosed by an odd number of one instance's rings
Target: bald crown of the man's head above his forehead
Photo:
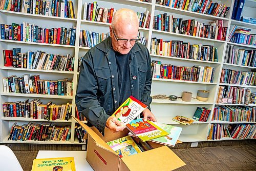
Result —
[[125, 21], [127, 24], [134, 24], [134, 22], [139, 23], [139, 18], [133, 10], [121, 8], [115, 12], [111, 26], [115, 28], [120, 21]]

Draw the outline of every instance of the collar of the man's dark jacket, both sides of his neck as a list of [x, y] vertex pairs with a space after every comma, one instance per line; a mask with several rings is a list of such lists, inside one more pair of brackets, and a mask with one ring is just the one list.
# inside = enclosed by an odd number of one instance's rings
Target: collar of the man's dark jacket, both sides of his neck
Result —
[[[112, 44], [111, 44], [111, 37], [109, 36], [108, 38], [106, 38], [104, 41], [102, 41], [101, 43], [99, 43], [96, 48], [98, 48], [99, 50], [103, 51], [104, 53], [108, 53], [109, 50], [112, 50]], [[137, 52], [141, 50], [139, 45], [136, 43], [133, 48], [131, 49], [131, 52]]]

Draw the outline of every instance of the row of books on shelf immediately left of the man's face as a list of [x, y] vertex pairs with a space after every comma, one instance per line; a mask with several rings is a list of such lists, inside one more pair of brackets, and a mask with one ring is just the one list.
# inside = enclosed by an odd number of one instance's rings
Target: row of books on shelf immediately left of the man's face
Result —
[[110, 36], [110, 33], [97, 33], [88, 30], [80, 30], [79, 46], [82, 47], [94, 47], [106, 38]]

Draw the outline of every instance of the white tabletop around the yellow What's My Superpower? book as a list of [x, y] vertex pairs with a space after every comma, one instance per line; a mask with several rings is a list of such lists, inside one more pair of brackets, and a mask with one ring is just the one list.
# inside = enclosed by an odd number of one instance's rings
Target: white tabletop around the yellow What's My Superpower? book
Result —
[[86, 160], [87, 151], [52, 151], [39, 150], [36, 159], [56, 158], [56, 157], [74, 157], [76, 171], [93, 170]]

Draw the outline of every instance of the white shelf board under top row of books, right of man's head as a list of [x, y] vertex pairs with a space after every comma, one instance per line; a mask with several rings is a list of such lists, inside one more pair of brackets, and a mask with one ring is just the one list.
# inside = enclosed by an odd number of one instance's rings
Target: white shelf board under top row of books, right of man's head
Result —
[[214, 16], [214, 15], [208, 15], [208, 14], [202, 14], [202, 13], [193, 12], [193, 11], [186, 11], [183, 9], [172, 8], [172, 7], [167, 7], [167, 6], [158, 5], [158, 4], [156, 4], [155, 9], [159, 10], [159, 11], [164, 11], [164, 12], [172, 12], [172, 13], [176, 13], [176, 14], [180, 14], [180, 15], [187, 15], [187, 16], [195, 17], [195, 18], [202, 18], [204, 20], [228, 21], [228, 18], [223, 18], [223, 17], [219, 17], [219, 16]]

